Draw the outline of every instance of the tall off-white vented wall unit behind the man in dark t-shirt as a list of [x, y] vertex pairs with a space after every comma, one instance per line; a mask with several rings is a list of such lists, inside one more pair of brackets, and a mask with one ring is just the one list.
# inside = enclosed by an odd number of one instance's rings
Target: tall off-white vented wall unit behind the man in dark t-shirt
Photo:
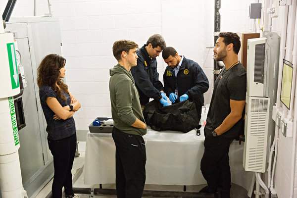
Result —
[[263, 32], [262, 38], [247, 41], [247, 99], [244, 168], [266, 171], [275, 123], [272, 107], [276, 102], [280, 37]]

